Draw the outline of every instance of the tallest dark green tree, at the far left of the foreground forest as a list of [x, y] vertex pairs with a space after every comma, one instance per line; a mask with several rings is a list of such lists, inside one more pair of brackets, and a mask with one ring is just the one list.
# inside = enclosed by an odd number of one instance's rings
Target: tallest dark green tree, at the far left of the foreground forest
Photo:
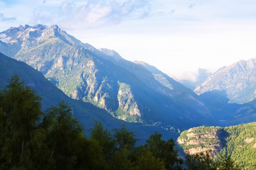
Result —
[[18, 75], [12, 76], [1, 92], [0, 107], [10, 123], [5, 129], [3, 142], [6, 154], [11, 157], [13, 168], [34, 168], [31, 165], [33, 155], [28, 146], [29, 142], [34, 140], [31, 133], [36, 130], [43, 116], [41, 99], [36, 95], [36, 91], [20, 81]]

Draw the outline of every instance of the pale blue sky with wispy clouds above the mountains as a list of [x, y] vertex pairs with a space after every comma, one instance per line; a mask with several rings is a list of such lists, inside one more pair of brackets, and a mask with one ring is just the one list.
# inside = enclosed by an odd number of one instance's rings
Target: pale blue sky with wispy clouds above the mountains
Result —
[[175, 79], [256, 57], [255, 0], [0, 0], [0, 32], [20, 24], [57, 24]]

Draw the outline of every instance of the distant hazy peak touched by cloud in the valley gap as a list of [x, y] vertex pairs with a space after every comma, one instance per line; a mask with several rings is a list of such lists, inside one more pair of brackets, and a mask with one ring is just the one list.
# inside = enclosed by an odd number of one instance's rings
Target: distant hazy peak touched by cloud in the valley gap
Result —
[[210, 75], [212, 75], [210, 71], [204, 68], [198, 68], [195, 80], [182, 79], [179, 82], [194, 91], [195, 88], [202, 84]]

